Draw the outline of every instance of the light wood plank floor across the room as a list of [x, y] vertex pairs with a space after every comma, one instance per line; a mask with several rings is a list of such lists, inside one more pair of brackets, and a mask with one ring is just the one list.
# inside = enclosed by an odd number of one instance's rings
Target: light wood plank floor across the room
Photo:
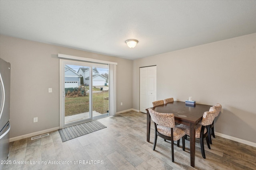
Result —
[[[188, 140], [186, 151], [182, 150], [182, 142], [180, 147], [174, 145], [175, 162], [172, 162], [170, 142], [158, 137], [156, 150], [152, 150], [154, 124], [150, 143], [146, 142], [144, 113], [128, 111], [98, 120], [107, 128], [63, 143], [58, 131], [40, 139], [10, 143], [11, 164], [5, 165], [4, 170], [255, 170], [256, 167], [256, 148], [218, 136], [212, 139], [211, 150], [205, 141], [206, 159], [202, 158], [200, 141], [196, 140], [195, 168], [190, 166]], [[54, 164], [58, 161], [62, 162]], [[24, 162], [28, 164], [21, 164]]]

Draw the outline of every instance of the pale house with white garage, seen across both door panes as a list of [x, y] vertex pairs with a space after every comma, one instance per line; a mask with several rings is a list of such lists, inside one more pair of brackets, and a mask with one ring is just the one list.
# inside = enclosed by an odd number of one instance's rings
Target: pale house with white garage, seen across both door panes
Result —
[[[89, 84], [90, 72], [89, 68], [80, 67], [77, 71], [79, 75], [82, 75], [84, 78], [84, 84]], [[92, 69], [92, 86], [105, 86], [107, 78], [100, 75], [97, 68]]]

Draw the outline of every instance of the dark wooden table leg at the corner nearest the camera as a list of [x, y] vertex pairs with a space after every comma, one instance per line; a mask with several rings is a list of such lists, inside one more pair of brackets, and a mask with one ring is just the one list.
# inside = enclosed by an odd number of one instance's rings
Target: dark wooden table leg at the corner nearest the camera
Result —
[[195, 155], [196, 155], [196, 124], [190, 123], [190, 165], [195, 167]]

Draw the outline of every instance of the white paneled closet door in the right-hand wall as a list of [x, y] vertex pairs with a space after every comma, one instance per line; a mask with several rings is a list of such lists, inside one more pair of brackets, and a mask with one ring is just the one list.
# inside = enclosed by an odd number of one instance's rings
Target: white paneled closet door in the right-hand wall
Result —
[[140, 68], [140, 111], [146, 113], [146, 109], [153, 107], [156, 101], [156, 66]]

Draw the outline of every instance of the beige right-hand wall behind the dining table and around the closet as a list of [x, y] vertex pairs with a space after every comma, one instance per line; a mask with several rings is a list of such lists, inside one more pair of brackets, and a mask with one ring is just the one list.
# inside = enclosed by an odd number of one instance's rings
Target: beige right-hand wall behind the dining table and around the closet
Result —
[[256, 33], [133, 61], [133, 108], [139, 109], [139, 67], [157, 65], [157, 100], [189, 96], [222, 104], [215, 131], [256, 143]]

